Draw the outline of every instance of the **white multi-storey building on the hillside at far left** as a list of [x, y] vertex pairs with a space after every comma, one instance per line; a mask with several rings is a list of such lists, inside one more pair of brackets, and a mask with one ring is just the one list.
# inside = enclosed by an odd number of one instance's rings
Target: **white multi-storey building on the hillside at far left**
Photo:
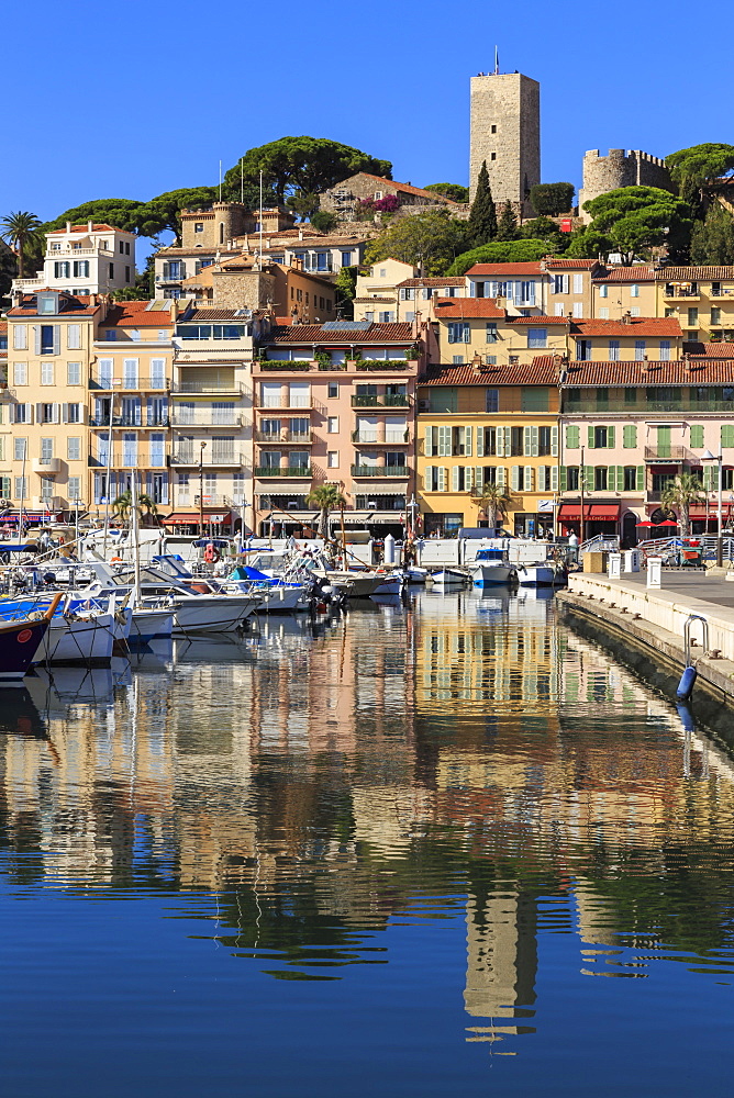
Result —
[[35, 278], [15, 279], [13, 290], [62, 290], [85, 296], [135, 284], [134, 233], [112, 225], [73, 225], [46, 233], [43, 270]]

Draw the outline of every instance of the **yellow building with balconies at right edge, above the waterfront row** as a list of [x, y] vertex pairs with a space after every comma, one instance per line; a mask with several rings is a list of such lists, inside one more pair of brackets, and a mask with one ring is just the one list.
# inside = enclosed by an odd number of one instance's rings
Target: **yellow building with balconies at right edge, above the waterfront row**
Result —
[[686, 339], [734, 339], [734, 267], [665, 267], [655, 290], [655, 315], [678, 317]]

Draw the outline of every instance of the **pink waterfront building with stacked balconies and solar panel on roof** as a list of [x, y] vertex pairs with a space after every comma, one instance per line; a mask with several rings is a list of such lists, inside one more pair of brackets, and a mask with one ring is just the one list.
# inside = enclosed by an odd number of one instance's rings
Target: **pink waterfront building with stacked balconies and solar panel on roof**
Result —
[[312, 488], [337, 484], [348, 527], [400, 534], [415, 490], [415, 382], [427, 327], [280, 325], [253, 363], [254, 507], [260, 534], [312, 528]]

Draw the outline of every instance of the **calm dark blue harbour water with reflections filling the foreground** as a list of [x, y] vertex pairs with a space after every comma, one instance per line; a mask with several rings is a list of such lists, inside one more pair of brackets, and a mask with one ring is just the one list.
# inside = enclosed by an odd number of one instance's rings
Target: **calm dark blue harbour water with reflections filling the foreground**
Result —
[[543, 593], [26, 683], [5, 1094], [731, 1094], [732, 757]]

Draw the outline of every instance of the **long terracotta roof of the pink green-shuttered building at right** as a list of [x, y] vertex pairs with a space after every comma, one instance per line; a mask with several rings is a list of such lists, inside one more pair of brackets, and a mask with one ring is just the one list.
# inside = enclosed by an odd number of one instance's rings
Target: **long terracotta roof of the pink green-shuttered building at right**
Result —
[[566, 384], [602, 385], [721, 385], [734, 382], [732, 359], [693, 359], [688, 362], [571, 362]]

